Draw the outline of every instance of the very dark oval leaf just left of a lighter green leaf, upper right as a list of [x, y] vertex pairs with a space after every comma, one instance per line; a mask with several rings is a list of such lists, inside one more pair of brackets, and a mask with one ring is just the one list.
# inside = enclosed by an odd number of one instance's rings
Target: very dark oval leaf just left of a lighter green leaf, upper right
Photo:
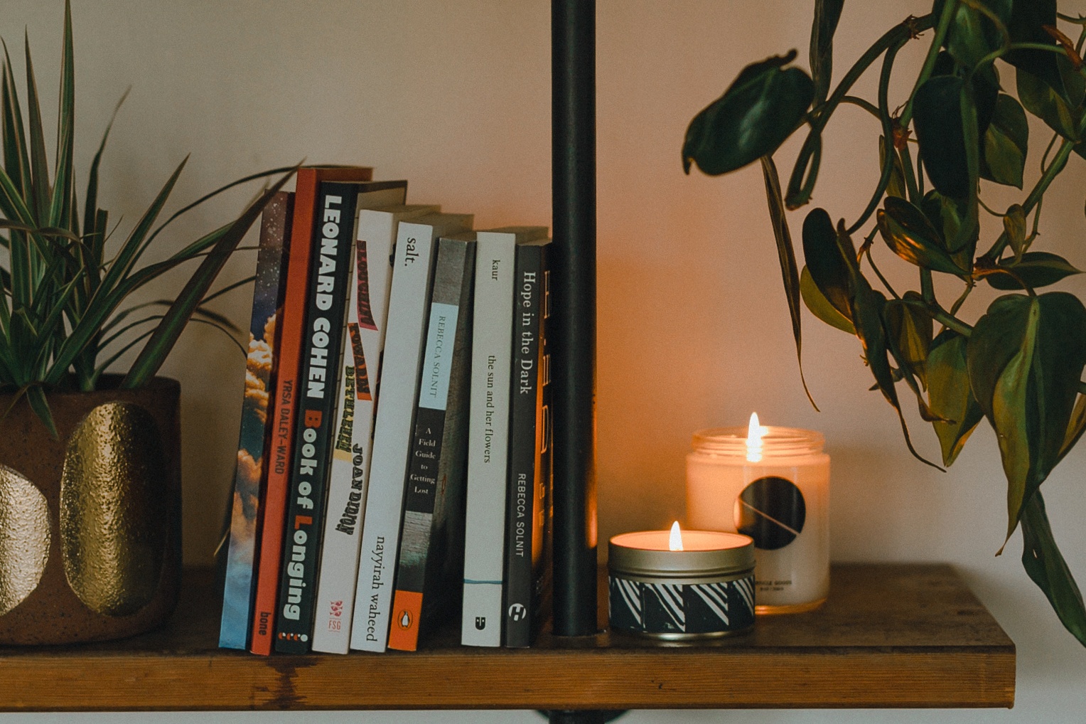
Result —
[[924, 82], [913, 100], [917, 142], [932, 186], [946, 196], [969, 194], [965, 139], [961, 128], [961, 91], [964, 82], [936, 75]]

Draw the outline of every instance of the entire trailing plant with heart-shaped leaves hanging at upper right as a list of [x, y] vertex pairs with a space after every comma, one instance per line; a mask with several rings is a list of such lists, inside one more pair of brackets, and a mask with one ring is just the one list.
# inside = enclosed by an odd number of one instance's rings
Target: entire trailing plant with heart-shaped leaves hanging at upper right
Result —
[[[1026, 573], [1086, 645], [1086, 607], [1040, 492], [1086, 430], [1086, 308], [1065, 291], [1038, 291], [1081, 271], [1032, 248], [1045, 192], [1073, 154], [1086, 158], [1086, 17], [1059, 13], [1056, 0], [936, 0], [931, 13], [887, 30], [834, 86], [833, 35], [843, 4], [816, 1], [809, 75], [791, 65], [795, 51], [754, 63], [694, 117], [683, 167], [717, 175], [761, 159], [797, 353], [801, 300], [816, 317], [859, 339], [873, 389], [895, 408], [913, 454], [920, 458], [901, 415], [900, 383], [932, 424], [944, 465], [988, 421], [1008, 483], [1007, 536], [1021, 526]], [[892, 102], [897, 52], [924, 36], [924, 63], [909, 93]], [[857, 97], [853, 86], [876, 61], [875, 97]], [[879, 183], [853, 221], [835, 222], [824, 209], [807, 213], [806, 264], [797, 274], [784, 209], [809, 202], [822, 134], [842, 103], [874, 120]], [[1027, 114], [1051, 130], [1032, 185]], [[782, 194], [772, 155], [804, 126]], [[993, 209], [982, 199], [992, 184], [1027, 191]], [[982, 214], [996, 216], [1001, 230], [978, 250]], [[858, 248], [854, 236], [863, 239]], [[876, 237], [913, 267], [917, 288], [887, 282], [875, 261]], [[936, 275], [960, 285], [949, 303], [935, 292]], [[964, 319], [965, 299], [986, 287], [1011, 294], [978, 319]]]

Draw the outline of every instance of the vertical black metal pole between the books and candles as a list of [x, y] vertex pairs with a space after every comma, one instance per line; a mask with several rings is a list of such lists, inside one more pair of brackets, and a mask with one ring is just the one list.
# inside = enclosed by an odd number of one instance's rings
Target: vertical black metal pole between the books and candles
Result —
[[554, 633], [596, 633], [596, 3], [552, 0]]

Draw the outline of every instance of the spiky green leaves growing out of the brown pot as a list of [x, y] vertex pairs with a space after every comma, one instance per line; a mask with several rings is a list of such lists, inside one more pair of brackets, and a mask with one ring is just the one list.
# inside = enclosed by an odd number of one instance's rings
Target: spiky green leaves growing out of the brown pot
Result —
[[[16, 399], [25, 396], [55, 435], [49, 412], [49, 390], [96, 389], [110, 364], [143, 342], [121, 383], [124, 388], [139, 387], [160, 369], [193, 315], [211, 324], [223, 324], [222, 317], [201, 309], [201, 304], [214, 296], [207, 292], [215, 277], [264, 205], [294, 170], [276, 168], [239, 179], [159, 223], [186, 159], [169, 175], [127, 236], [116, 244], [115, 228], [109, 226], [109, 212], [99, 207], [98, 199], [99, 166], [113, 120], [91, 162], [81, 207], [75, 187], [75, 72], [70, 2], [65, 1], [64, 8], [52, 175], [29, 40], [25, 43], [24, 98], [16, 88], [7, 43], [3, 52], [0, 68], [0, 140], [3, 146], [0, 229], [7, 238], [0, 236], [0, 245], [7, 251], [7, 260], [0, 264], [0, 389], [16, 391]], [[282, 173], [282, 177], [236, 220], [163, 261], [140, 263], [160, 234], [181, 214], [238, 184], [277, 173]], [[125, 307], [129, 296], [185, 262], [198, 265], [176, 299], [165, 302], [166, 309], [161, 314], [144, 312], [142, 317], [135, 319], [148, 304]], [[230, 288], [232, 286], [236, 285]]]

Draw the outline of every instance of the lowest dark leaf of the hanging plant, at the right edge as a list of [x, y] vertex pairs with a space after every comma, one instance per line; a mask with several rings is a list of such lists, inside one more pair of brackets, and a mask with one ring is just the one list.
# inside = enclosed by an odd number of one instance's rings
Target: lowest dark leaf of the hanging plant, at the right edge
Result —
[[1045, 591], [1060, 622], [1086, 645], [1086, 608], [1071, 569], [1056, 546], [1045, 500], [1035, 492], [1022, 512], [1022, 567]]

